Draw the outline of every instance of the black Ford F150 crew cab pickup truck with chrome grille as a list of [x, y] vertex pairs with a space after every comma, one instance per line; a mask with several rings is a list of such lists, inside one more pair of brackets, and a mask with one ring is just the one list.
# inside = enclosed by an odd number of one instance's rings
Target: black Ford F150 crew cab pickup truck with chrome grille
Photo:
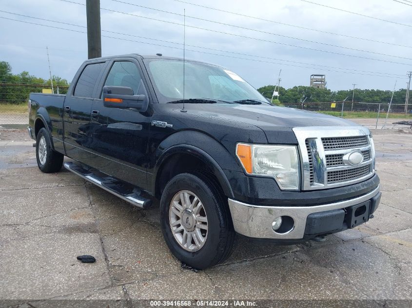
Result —
[[291, 244], [373, 217], [373, 138], [329, 115], [273, 106], [236, 73], [127, 54], [85, 61], [66, 95], [31, 93], [42, 172], [64, 167], [135, 206], [160, 200], [166, 243], [204, 269], [236, 234]]

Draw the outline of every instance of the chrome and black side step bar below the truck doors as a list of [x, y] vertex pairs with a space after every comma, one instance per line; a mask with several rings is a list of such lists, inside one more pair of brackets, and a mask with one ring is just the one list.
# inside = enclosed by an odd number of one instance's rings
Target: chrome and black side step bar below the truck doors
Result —
[[90, 170], [86, 170], [73, 162], [64, 163], [64, 168], [137, 207], [145, 209], [152, 205], [152, 200], [141, 197], [141, 190], [130, 184], [109, 176], [99, 177]]

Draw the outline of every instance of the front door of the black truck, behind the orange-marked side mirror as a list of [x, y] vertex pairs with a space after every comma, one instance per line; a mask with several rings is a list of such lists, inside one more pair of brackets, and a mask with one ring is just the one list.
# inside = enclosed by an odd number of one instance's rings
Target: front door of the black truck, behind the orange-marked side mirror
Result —
[[[109, 64], [103, 86], [132, 88], [134, 94], [148, 95], [140, 66], [134, 59], [113, 61]], [[93, 167], [117, 179], [147, 189], [146, 165], [151, 108], [145, 112], [137, 109], [104, 107], [96, 99], [91, 111], [90, 149]]]

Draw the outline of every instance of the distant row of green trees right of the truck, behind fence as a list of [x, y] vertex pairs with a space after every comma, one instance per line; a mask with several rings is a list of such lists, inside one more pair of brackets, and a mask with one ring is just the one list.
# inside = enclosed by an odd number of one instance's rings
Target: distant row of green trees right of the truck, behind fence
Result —
[[[277, 88], [277, 87], [276, 87]], [[275, 86], [268, 85], [257, 89], [263, 96], [268, 99], [272, 98]], [[331, 91], [329, 89], [317, 89], [305, 86], [295, 86], [290, 89], [280, 87], [279, 101], [274, 101], [277, 104], [297, 104], [306, 99], [305, 102], [341, 102], [346, 97], [347, 101], [352, 101], [353, 89]], [[392, 91], [384, 90], [369, 90], [369, 89], [355, 89], [353, 100], [355, 102], [364, 103], [389, 103], [391, 101]], [[404, 104], [406, 98], [406, 89], [400, 89], [393, 93], [392, 104]]]

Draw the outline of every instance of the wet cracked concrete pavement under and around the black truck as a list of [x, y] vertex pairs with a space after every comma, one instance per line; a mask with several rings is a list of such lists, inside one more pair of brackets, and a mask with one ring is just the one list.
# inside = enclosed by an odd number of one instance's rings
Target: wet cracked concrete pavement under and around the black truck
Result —
[[[239, 239], [223, 264], [195, 272], [169, 252], [158, 202], [137, 209], [64, 169], [43, 174], [27, 133], [1, 129], [0, 301], [50, 307], [51, 299], [95, 299], [130, 307], [131, 300], [159, 298], [412, 299], [412, 134], [373, 135], [382, 190], [373, 219], [325, 242]], [[97, 262], [80, 263], [81, 254]]]

